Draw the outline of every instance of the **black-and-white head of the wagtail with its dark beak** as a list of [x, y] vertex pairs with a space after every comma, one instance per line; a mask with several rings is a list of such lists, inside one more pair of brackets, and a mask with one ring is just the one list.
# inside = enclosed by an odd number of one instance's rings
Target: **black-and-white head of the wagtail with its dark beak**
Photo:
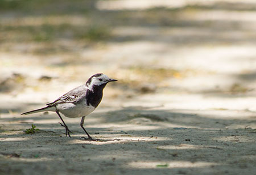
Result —
[[103, 86], [105, 87], [109, 82], [116, 82], [117, 80], [109, 78], [104, 74], [94, 74], [91, 76], [88, 81], [86, 82], [86, 86], [89, 89], [93, 89], [93, 86]]

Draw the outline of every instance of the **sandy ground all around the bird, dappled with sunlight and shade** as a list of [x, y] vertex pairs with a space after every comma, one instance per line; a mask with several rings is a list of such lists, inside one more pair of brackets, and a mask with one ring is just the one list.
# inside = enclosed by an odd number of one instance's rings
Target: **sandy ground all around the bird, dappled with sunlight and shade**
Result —
[[[2, 12], [0, 174], [255, 174], [255, 3], [163, 1], [168, 8], [142, 10], [151, 5], [115, 2], [100, 1], [86, 18], [80, 1], [76, 13], [57, 8], [65, 15], [44, 14], [45, 4], [36, 15]], [[105, 41], [77, 40], [68, 29], [43, 33], [47, 41], [26, 33], [92, 19], [111, 25]], [[68, 138], [55, 113], [20, 116], [97, 72], [119, 80], [85, 118], [100, 141], [80, 139], [80, 118], [64, 117]], [[39, 130], [25, 134], [31, 124]]]

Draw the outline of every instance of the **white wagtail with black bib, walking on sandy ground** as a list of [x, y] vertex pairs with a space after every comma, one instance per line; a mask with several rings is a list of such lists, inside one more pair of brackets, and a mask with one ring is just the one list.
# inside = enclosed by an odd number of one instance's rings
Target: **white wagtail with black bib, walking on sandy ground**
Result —
[[[88, 135], [88, 140], [93, 140], [84, 129], [85, 116], [92, 113], [93, 110], [97, 108], [98, 104], [100, 104], [103, 96], [103, 89], [105, 88], [106, 84], [115, 81], [117, 80], [111, 79], [104, 74], [95, 74], [91, 76], [85, 84], [72, 89], [68, 93], [65, 93], [52, 103], [46, 104], [46, 107], [31, 110], [29, 112], [22, 113], [22, 115], [44, 111], [56, 112], [63, 122], [63, 124], [60, 123], [60, 125], [65, 127], [66, 136], [68, 135], [69, 137], [71, 137], [69, 134], [71, 131], [61, 118], [60, 113], [69, 118], [82, 117], [80, 126]], [[85, 137], [82, 138], [86, 139]]]

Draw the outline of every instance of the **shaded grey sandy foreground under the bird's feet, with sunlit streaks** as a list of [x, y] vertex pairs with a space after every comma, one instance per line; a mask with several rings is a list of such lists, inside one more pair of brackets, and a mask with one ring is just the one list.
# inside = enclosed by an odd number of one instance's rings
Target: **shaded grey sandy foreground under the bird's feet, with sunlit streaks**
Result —
[[[32, 119], [37, 123], [53, 117], [57, 116], [26, 116], [26, 120]], [[57, 123], [36, 124], [40, 131], [34, 135], [22, 134], [22, 130], [11, 134], [15, 130], [9, 130], [11, 124], [6, 125], [4, 128], [9, 131], [5, 132], [10, 134], [1, 136], [1, 172], [33, 173], [44, 170], [46, 173], [82, 173], [89, 170], [93, 173], [171, 171], [183, 174], [213, 173], [221, 168], [221, 173], [235, 173], [237, 169], [248, 173], [253, 168], [247, 163], [254, 159], [251, 152], [255, 151], [255, 131], [225, 129], [225, 123], [250, 122], [246, 119], [214, 119], [195, 113], [141, 107], [95, 113], [92, 118], [93, 122], [90, 122], [90, 117], [88, 122], [85, 120], [86, 125], [104, 123], [119, 126], [86, 127], [93, 137], [101, 139], [101, 142], [89, 142], [80, 140], [84, 133], [79, 123], [71, 123], [71, 120], [66, 123], [75, 131], [72, 138], [65, 138], [63, 128]], [[23, 118], [1, 119], [4, 122], [16, 120], [22, 121]], [[214, 129], [208, 129], [207, 123], [214, 123]], [[171, 124], [180, 127], [170, 127]], [[28, 124], [19, 125], [20, 128]], [[243, 149], [245, 146], [246, 150]]]

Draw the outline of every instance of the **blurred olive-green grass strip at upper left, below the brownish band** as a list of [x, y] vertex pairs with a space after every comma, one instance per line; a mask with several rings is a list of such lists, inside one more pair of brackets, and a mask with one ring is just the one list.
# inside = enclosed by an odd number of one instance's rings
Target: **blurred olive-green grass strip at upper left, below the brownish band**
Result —
[[[42, 25], [25, 25], [25, 26], [11, 26], [5, 25], [0, 26], [1, 31], [15, 32], [13, 35], [23, 34], [20, 37], [23, 41], [52, 41], [58, 38], [70, 37], [74, 40], [88, 40], [88, 41], [100, 41], [109, 39], [111, 31], [108, 26], [103, 25], [89, 25], [76, 27], [72, 24], [64, 23], [60, 25], [54, 24], [42, 24]], [[18, 39], [19, 37], [15, 37]], [[6, 37], [6, 40], [9, 40]]]

